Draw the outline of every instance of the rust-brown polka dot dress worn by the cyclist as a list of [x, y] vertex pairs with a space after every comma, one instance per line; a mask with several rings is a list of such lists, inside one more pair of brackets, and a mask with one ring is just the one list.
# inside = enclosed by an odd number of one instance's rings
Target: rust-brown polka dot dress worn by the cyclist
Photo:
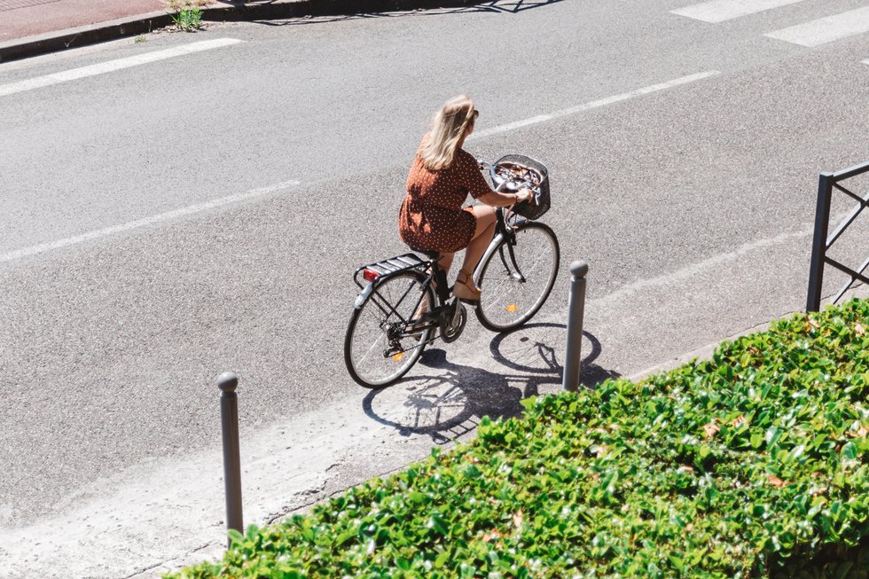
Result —
[[463, 149], [450, 167], [437, 171], [429, 171], [417, 155], [398, 213], [403, 242], [413, 249], [443, 253], [465, 248], [474, 237], [476, 219], [462, 204], [469, 194], [477, 199], [491, 191], [477, 161]]

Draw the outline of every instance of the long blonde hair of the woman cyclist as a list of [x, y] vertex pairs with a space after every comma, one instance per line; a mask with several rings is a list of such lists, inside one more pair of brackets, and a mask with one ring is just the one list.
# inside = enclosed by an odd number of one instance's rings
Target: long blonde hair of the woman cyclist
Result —
[[429, 171], [450, 167], [456, 158], [458, 144], [476, 118], [474, 101], [467, 95], [458, 95], [445, 102], [432, 117], [431, 132], [419, 145], [417, 153], [422, 164]]

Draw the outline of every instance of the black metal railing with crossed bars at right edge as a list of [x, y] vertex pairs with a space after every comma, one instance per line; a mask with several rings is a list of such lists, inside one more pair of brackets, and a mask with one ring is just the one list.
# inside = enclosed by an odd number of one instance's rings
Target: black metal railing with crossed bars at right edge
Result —
[[[854, 282], [861, 281], [864, 284], [869, 284], [869, 278], [864, 274], [866, 267], [869, 267], [869, 259], [866, 259], [858, 270], [852, 270], [847, 265], [837, 262], [826, 254], [836, 242], [836, 239], [842, 237], [842, 233], [848, 229], [851, 223], [854, 223], [857, 215], [860, 215], [860, 212], [869, 205], [869, 192], [860, 197], [857, 193], [849, 191], [840, 183], [866, 172], [869, 172], [869, 161], [836, 173], [821, 173], [818, 179], [818, 208], [815, 210], [815, 239], [811, 247], [809, 295], [806, 298], [806, 311], [818, 311], [821, 307], [821, 290], [824, 286], [824, 267], [826, 265], [831, 265], [836, 270], [840, 270], [850, 276], [848, 283], [842, 286], [842, 289], [833, 298], [833, 303], [841, 300], [842, 296]], [[842, 222], [836, 226], [835, 231], [829, 234], [830, 203], [833, 199], [834, 189], [838, 189], [856, 200], [858, 205], [842, 219]]]

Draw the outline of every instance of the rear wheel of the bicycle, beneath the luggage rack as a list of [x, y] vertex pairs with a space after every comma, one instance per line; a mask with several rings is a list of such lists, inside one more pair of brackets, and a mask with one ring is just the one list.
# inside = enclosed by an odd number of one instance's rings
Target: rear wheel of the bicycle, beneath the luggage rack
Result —
[[419, 359], [433, 330], [407, 331], [420, 309], [435, 307], [435, 292], [421, 273], [407, 271], [382, 282], [353, 310], [344, 337], [344, 363], [360, 386], [388, 386]]

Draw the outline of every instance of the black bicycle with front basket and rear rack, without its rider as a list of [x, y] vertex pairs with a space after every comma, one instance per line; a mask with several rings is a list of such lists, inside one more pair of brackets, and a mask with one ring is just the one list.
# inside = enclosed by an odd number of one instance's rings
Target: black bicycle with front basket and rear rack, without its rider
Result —
[[[495, 235], [474, 270], [474, 282], [482, 290], [474, 309], [477, 319], [492, 332], [507, 332], [543, 307], [558, 275], [558, 238], [548, 225], [536, 223], [549, 209], [549, 171], [524, 155], [478, 162], [481, 170], [489, 170], [496, 191], [527, 187], [534, 192], [533, 200], [512, 210], [497, 207]], [[465, 329], [467, 309], [451, 295], [446, 273], [438, 267], [440, 255], [411, 250], [425, 259], [415, 253], [397, 255], [353, 274], [362, 291], [344, 337], [344, 363], [361, 386], [395, 383], [428, 344], [437, 338], [458, 340]]]

